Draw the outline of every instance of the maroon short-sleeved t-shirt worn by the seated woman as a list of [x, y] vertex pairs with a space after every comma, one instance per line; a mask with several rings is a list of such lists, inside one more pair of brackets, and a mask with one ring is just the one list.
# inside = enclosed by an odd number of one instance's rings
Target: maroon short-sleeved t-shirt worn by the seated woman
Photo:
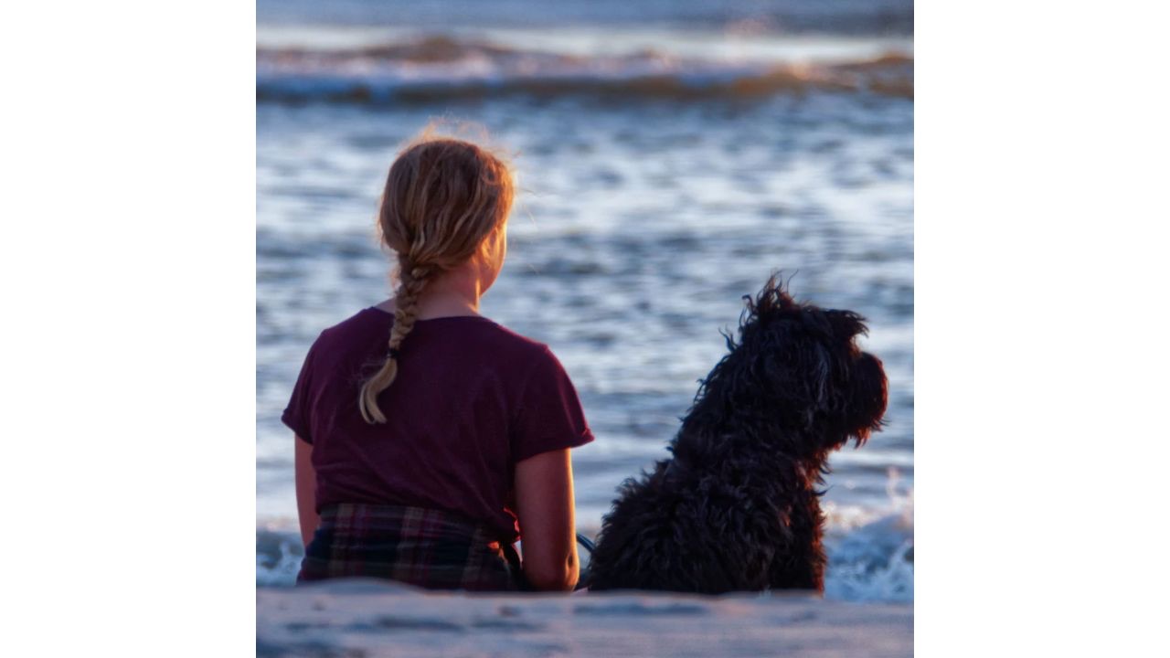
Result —
[[358, 411], [362, 382], [386, 355], [394, 316], [367, 308], [322, 331], [282, 420], [312, 444], [317, 509], [339, 502], [446, 509], [519, 536], [516, 462], [593, 440], [580, 400], [542, 343], [480, 316], [420, 320], [398, 376]]

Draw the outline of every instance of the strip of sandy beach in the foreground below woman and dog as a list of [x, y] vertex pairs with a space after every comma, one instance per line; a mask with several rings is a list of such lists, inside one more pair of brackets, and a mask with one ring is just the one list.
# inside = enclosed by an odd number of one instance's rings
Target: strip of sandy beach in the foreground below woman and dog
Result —
[[367, 578], [256, 592], [264, 658], [913, 653], [913, 604], [807, 594], [501, 596]]

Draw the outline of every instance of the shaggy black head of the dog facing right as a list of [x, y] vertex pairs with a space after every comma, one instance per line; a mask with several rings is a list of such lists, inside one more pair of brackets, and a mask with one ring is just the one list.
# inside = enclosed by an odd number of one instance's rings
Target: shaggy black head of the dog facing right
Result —
[[[849, 310], [799, 303], [776, 276], [769, 279], [739, 320], [739, 341], [703, 382], [696, 397], [737, 418], [736, 424], [775, 426], [798, 454], [861, 445], [882, 426], [886, 372], [856, 344], [865, 318]], [[703, 400], [700, 400], [703, 398]], [[814, 439], [813, 445], [807, 445]]]

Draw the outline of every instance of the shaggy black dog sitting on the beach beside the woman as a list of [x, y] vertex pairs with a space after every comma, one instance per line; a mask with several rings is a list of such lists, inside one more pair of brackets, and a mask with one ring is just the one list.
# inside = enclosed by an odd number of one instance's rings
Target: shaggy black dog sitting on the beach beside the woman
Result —
[[772, 276], [670, 452], [626, 480], [601, 523], [592, 590], [824, 590], [818, 485], [828, 453], [882, 425], [886, 372], [861, 316], [797, 303]]

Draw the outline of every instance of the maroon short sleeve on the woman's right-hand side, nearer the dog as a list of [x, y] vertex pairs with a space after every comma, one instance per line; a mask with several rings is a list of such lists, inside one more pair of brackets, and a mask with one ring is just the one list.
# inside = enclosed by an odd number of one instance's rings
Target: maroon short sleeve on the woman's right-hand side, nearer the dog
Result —
[[521, 389], [511, 431], [512, 462], [592, 440], [577, 389], [557, 357], [544, 348]]

